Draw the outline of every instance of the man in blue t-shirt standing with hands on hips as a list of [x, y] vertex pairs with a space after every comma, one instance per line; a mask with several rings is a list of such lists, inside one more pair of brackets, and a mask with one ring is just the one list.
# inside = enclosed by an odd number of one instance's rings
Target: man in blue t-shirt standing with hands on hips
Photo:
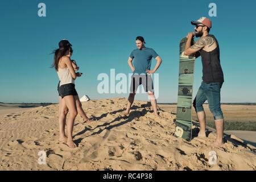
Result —
[[[124, 115], [129, 114], [138, 86], [142, 84], [144, 91], [147, 92], [148, 96], [150, 97], [151, 105], [155, 115], [159, 116], [156, 98], [154, 95], [153, 81], [150, 75], [158, 70], [160, 64], [162, 63], [162, 59], [160, 56], [158, 56], [154, 49], [147, 48], [144, 44], [144, 38], [142, 36], [137, 36], [136, 46], [138, 49], [134, 49], [128, 59], [128, 64], [131, 68], [131, 71], [133, 71], [133, 76], [131, 77], [130, 94], [128, 98], [127, 109]], [[152, 57], [156, 59], [157, 63], [155, 68], [150, 70]]]

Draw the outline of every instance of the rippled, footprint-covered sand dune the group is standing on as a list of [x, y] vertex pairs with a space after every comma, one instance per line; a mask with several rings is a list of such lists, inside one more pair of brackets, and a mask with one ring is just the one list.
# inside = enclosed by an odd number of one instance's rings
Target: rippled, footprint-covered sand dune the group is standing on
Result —
[[[59, 142], [59, 105], [35, 107], [0, 115], [0, 170], [255, 170], [255, 148], [226, 136], [222, 147], [212, 147], [216, 134], [174, 137], [175, 115], [160, 110], [160, 118], [147, 102], [135, 101], [130, 116], [120, 116], [126, 98], [89, 101], [82, 107], [94, 121], [77, 117], [77, 148]], [[196, 126], [193, 132], [196, 135]], [[46, 151], [46, 165], [38, 152]], [[217, 164], [209, 164], [216, 151]]]

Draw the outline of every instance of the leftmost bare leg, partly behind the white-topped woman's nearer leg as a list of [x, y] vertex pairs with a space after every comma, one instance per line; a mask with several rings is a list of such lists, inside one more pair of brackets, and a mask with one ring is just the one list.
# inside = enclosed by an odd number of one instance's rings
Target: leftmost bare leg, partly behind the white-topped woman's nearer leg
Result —
[[68, 107], [65, 100], [59, 97], [59, 128], [60, 128], [60, 142], [66, 142], [68, 137], [65, 135], [66, 117], [68, 114]]

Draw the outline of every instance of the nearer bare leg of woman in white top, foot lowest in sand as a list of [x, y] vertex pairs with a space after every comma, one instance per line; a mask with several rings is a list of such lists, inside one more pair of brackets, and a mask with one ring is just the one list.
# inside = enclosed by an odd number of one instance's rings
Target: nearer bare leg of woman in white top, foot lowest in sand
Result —
[[68, 132], [67, 144], [69, 147], [75, 148], [76, 144], [73, 142], [72, 133], [73, 133], [73, 125], [75, 122], [75, 118], [77, 116], [76, 101], [74, 96], [65, 96], [64, 100], [65, 100], [65, 105], [67, 105], [68, 111], [69, 111], [69, 117], [67, 121], [67, 132]]

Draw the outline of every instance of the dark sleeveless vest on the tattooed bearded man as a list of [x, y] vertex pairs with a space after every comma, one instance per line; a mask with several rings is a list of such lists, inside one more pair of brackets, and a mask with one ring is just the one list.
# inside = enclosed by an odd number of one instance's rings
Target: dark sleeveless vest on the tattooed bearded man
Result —
[[203, 64], [204, 82], [224, 82], [224, 76], [220, 65], [220, 47], [214, 35], [208, 35], [216, 40], [217, 47], [210, 52], [200, 50]]

